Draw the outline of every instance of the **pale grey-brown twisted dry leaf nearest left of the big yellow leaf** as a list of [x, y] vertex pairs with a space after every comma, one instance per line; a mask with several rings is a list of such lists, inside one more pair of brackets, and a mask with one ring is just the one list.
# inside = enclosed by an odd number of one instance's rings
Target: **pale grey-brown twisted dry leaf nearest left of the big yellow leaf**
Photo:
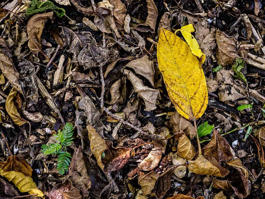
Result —
[[144, 86], [143, 80], [139, 79], [130, 70], [124, 69], [124, 73], [127, 75], [127, 78], [133, 84], [135, 92], [138, 93], [139, 96], [144, 100], [145, 109], [147, 111], [155, 110], [157, 108], [156, 99], [160, 96], [159, 90]]

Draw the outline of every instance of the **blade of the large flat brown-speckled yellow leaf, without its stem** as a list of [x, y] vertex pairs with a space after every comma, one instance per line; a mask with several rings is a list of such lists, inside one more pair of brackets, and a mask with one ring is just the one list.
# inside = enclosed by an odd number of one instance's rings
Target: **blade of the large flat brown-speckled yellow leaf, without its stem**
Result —
[[157, 60], [167, 92], [176, 110], [186, 119], [198, 119], [208, 103], [204, 72], [189, 46], [174, 33], [162, 28]]

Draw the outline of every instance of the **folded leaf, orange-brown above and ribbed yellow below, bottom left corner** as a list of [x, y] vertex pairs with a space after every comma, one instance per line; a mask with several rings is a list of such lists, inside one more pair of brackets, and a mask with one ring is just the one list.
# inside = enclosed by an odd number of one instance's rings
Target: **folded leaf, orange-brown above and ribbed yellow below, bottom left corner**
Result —
[[12, 181], [21, 193], [28, 192], [44, 198], [44, 194], [31, 178], [32, 171], [27, 161], [16, 155], [9, 156], [5, 162], [0, 162], [0, 175]]

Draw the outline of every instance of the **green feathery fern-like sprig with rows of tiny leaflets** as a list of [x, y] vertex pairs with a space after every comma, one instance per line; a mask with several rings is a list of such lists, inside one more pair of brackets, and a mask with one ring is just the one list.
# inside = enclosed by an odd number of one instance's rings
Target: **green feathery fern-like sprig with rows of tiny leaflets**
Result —
[[60, 175], [64, 175], [65, 171], [68, 170], [68, 167], [71, 163], [71, 154], [66, 151], [67, 146], [70, 146], [74, 139], [73, 136], [73, 124], [66, 123], [64, 126], [63, 131], [58, 131], [58, 134], [54, 135], [56, 140], [59, 141], [59, 143], [54, 144], [43, 144], [41, 146], [42, 152], [45, 155], [50, 154], [59, 154], [58, 160], [57, 160], [57, 170], [59, 170]]

